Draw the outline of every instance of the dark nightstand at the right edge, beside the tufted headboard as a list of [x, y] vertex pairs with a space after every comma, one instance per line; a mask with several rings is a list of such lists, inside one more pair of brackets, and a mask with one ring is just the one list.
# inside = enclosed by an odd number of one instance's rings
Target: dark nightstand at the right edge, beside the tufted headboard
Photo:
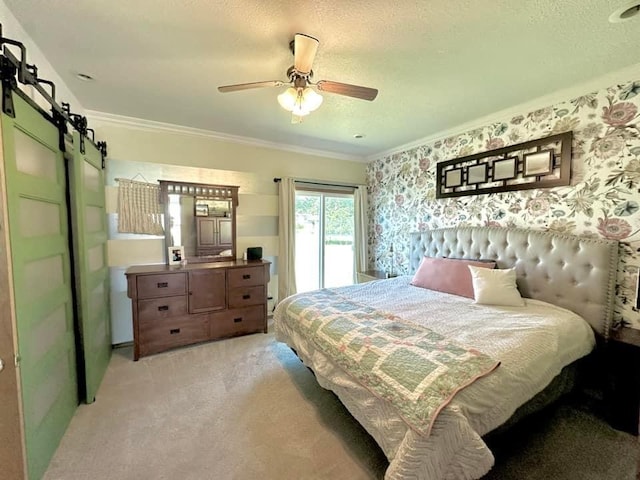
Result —
[[605, 401], [613, 428], [638, 435], [640, 412], [640, 330], [612, 332], [606, 346]]

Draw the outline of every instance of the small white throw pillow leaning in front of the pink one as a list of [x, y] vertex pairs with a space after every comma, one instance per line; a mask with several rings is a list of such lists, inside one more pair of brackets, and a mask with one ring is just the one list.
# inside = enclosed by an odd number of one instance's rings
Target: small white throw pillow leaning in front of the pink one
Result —
[[492, 270], [469, 265], [474, 303], [522, 307], [524, 300], [516, 286], [516, 269]]

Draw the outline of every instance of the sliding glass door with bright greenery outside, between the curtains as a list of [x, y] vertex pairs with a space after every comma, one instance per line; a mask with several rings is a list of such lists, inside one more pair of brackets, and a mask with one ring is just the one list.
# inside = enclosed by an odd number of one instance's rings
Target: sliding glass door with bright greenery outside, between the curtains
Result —
[[296, 283], [299, 292], [354, 280], [352, 193], [296, 191]]

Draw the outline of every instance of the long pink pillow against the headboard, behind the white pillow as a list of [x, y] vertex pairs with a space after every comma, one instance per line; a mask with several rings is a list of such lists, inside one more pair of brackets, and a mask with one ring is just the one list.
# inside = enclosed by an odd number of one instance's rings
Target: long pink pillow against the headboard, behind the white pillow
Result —
[[424, 257], [411, 280], [411, 285], [473, 298], [470, 266], [488, 270], [495, 268], [496, 263], [459, 258]]

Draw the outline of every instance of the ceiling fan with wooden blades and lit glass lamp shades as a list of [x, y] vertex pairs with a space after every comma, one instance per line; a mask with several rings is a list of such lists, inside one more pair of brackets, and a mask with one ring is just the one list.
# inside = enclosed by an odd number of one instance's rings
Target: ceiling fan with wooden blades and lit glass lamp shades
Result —
[[311, 81], [313, 77], [311, 66], [313, 65], [319, 43], [316, 38], [302, 33], [296, 33], [289, 44], [293, 52], [294, 60], [293, 66], [287, 70], [288, 81], [268, 80], [264, 82], [224, 85], [218, 87], [218, 91], [227, 93], [248, 90], [250, 88], [290, 85], [287, 90], [278, 95], [278, 103], [280, 103], [285, 110], [291, 112], [291, 123], [300, 123], [302, 117], [308, 115], [322, 104], [322, 95], [319, 95], [313, 88], [322, 92], [336, 93], [338, 95], [346, 95], [347, 97], [362, 100], [374, 100], [378, 95], [378, 90], [375, 88], [332, 82], [329, 80], [319, 80], [315, 83]]

